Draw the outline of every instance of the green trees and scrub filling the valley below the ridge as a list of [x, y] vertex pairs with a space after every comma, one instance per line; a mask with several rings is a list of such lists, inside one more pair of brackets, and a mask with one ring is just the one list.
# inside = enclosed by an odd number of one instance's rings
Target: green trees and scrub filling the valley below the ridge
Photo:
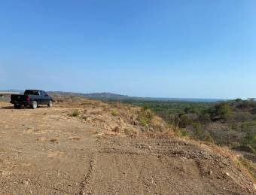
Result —
[[172, 129], [178, 136], [249, 152], [256, 161], [256, 102], [252, 100], [207, 103], [123, 99], [120, 102], [142, 107], [139, 114], [142, 126], [150, 123], [150, 109], [174, 126]]

